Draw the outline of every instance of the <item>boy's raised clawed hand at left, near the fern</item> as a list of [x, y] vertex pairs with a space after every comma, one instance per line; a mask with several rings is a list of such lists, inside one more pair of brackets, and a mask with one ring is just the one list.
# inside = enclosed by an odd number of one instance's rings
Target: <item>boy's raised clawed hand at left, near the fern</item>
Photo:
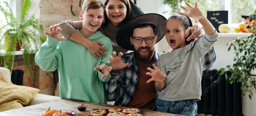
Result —
[[62, 31], [62, 29], [60, 27], [58, 29], [56, 29], [56, 27], [58, 27], [58, 25], [51, 26], [49, 28], [50, 32], [45, 31], [45, 34], [47, 34], [50, 37], [56, 38], [60, 41], [64, 41], [65, 38], [62, 38], [59, 36], [59, 33], [60, 33], [60, 31]]

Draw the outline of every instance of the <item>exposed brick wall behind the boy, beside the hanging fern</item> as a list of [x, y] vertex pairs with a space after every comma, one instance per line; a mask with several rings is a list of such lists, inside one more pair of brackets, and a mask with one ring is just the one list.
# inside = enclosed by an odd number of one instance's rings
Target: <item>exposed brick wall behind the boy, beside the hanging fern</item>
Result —
[[[82, 10], [82, 3], [83, 0], [41, 0], [39, 4], [40, 8], [35, 9], [40, 10], [41, 25], [43, 25], [45, 31], [49, 32], [50, 26], [58, 24], [61, 21], [80, 20], [79, 13]], [[29, 74], [24, 74], [24, 82], [27, 82], [27, 86], [30, 86], [32, 81], [35, 81], [34, 87], [40, 88], [40, 93], [54, 95], [54, 80], [47, 72], [42, 71], [40, 67], [35, 67], [35, 80], [31, 80], [28, 77], [30, 77]]]

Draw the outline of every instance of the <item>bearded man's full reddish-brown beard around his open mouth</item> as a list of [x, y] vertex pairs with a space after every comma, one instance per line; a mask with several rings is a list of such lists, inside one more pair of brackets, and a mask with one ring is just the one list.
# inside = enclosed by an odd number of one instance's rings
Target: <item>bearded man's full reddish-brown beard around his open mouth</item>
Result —
[[[140, 53], [140, 50], [141, 48], [146, 48], [149, 50], [149, 53], [148, 54], [141, 54]], [[138, 50], [134, 50], [134, 53], [136, 55], [136, 57], [141, 61], [141, 62], [149, 62], [151, 60], [151, 58], [154, 57], [154, 52], [155, 52], [155, 48], [153, 49], [150, 49], [150, 47], [146, 46], [146, 47], [140, 47], [138, 48]]]

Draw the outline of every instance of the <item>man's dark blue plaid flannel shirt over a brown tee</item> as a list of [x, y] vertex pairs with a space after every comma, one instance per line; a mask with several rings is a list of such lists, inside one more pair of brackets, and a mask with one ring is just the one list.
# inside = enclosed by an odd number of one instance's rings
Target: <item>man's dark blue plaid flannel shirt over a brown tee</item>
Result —
[[[157, 63], [158, 56], [158, 53], [155, 51], [150, 68], [154, 69], [152, 65]], [[214, 47], [212, 47], [204, 56], [203, 72], [213, 66], [215, 59], [216, 53]], [[125, 67], [118, 73], [110, 72], [111, 79], [105, 83], [105, 88], [108, 101], [115, 101], [114, 105], [127, 106], [137, 86], [139, 69], [135, 64], [134, 52], [124, 53], [122, 61], [124, 63], [129, 62], [129, 67]]]

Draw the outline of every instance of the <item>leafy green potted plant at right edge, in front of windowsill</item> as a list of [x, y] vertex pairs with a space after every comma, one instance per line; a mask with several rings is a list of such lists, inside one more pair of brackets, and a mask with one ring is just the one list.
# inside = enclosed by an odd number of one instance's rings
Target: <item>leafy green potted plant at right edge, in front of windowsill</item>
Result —
[[[256, 12], [249, 14], [249, 18], [256, 21]], [[250, 29], [255, 30], [255, 26], [251, 24]], [[233, 46], [236, 54], [233, 58], [233, 65], [226, 66], [232, 73], [228, 81], [230, 84], [242, 82], [241, 89], [243, 94], [241, 96], [249, 93], [249, 98], [251, 99], [253, 93], [256, 93], [256, 75], [252, 74], [252, 71], [256, 70], [256, 32], [253, 31], [247, 38], [234, 38], [227, 45], [229, 45], [228, 51]], [[225, 74], [224, 68], [220, 70], [222, 71], [220, 75]], [[227, 75], [225, 77], [227, 79]]]

